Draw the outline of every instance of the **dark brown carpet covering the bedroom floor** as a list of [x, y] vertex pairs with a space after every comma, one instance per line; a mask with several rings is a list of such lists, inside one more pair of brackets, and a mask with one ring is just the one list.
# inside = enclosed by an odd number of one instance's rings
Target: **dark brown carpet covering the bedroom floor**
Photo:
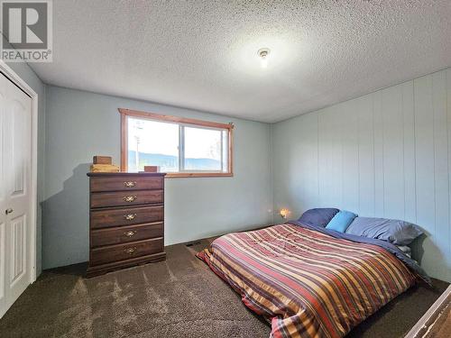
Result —
[[[0, 320], [0, 337], [269, 337], [270, 326], [194, 253], [84, 279], [85, 264], [44, 271]], [[447, 283], [411, 288], [357, 326], [353, 337], [401, 337]]]

